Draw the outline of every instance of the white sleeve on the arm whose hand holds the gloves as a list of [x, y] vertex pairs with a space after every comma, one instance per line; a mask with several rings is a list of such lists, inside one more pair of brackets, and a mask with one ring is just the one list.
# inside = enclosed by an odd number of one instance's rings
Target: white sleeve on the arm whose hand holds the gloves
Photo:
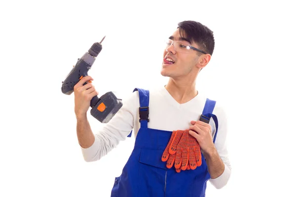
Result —
[[[218, 118], [218, 126], [219, 126], [217, 136], [216, 136], [216, 141], [215, 141], [215, 147], [218, 151], [220, 158], [224, 163], [224, 171], [219, 177], [215, 179], [210, 179], [209, 181], [215, 188], [221, 189], [227, 184], [231, 174], [231, 164], [229, 161], [229, 156], [227, 151], [227, 140], [226, 140], [227, 117], [226, 117], [225, 111], [221, 106], [217, 106], [217, 108], [215, 107], [213, 113], [216, 114]], [[213, 138], [214, 138], [214, 135], [213, 135]]]

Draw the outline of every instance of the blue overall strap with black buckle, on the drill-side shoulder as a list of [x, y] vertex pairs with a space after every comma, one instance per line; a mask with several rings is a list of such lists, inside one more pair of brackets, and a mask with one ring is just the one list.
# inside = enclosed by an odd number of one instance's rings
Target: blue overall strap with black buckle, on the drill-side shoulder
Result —
[[[133, 92], [138, 91], [139, 92], [139, 100], [140, 100], [140, 107], [139, 107], [139, 115], [140, 119], [139, 122], [141, 123], [141, 128], [148, 128], [148, 122], [149, 122], [149, 91], [135, 88]], [[133, 131], [133, 130], [132, 130]], [[132, 131], [128, 135], [128, 137], [131, 137]]]

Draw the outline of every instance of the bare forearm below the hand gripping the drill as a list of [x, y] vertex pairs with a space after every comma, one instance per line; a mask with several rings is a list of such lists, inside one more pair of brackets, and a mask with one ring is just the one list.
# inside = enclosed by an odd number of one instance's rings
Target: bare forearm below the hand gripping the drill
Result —
[[78, 143], [82, 148], [88, 148], [94, 143], [95, 136], [91, 131], [89, 122], [87, 120], [87, 116], [86, 114], [79, 115], [79, 116], [76, 116], [76, 119], [77, 119], [76, 133], [77, 133]]

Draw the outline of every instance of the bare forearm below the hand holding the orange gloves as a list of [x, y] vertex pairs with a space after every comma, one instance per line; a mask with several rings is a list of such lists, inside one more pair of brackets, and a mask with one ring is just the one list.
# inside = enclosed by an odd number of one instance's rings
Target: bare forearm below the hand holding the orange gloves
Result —
[[209, 153], [205, 154], [206, 163], [212, 179], [219, 177], [224, 171], [224, 163], [220, 158], [217, 149], [213, 148]]

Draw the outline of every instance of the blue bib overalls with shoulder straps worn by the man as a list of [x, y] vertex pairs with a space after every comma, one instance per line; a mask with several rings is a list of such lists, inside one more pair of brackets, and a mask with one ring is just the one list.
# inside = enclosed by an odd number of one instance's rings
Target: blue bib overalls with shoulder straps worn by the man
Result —
[[[134, 91], [139, 91], [141, 128], [122, 174], [115, 178], [111, 197], [204, 197], [206, 183], [210, 179], [204, 156], [201, 166], [195, 170], [177, 173], [174, 166], [167, 168], [161, 157], [172, 131], [148, 128], [149, 91], [137, 88]], [[201, 117], [207, 123], [211, 117], [214, 119], [214, 143], [218, 131], [217, 117], [212, 114], [215, 103], [207, 99]]]

